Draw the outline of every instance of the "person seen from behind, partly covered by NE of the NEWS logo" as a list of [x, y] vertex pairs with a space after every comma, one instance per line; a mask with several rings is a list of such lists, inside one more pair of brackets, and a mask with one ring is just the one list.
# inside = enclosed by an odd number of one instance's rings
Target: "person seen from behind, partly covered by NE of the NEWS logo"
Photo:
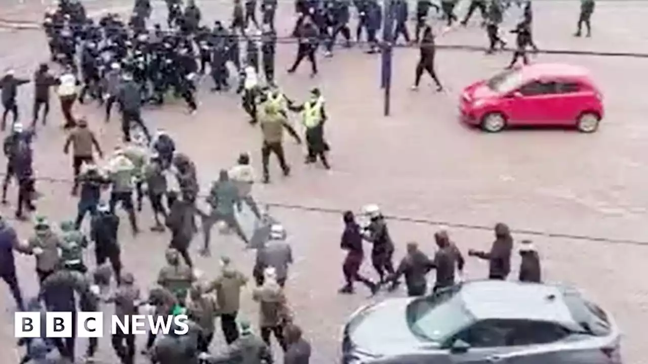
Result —
[[[122, 273], [121, 285], [106, 299], [106, 303], [115, 304], [115, 316], [122, 323], [130, 322], [128, 317], [139, 314], [140, 291], [131, 273]], [[122, 364], [134, 364], [135, 334], [133, 332], [123, 332], [118, 326], [117, 333], [112, 336], [112, 345]]]

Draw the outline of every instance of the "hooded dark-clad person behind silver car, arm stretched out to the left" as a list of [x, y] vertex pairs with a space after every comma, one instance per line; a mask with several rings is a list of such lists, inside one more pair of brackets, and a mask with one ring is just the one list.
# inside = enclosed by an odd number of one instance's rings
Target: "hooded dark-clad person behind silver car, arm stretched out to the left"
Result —
[[497, 223], [495, 225], [495, 241], [491, 251], [476, 251], [470, 249], [469, 256], [489, 261], [489, 279], [505, 280], [511, 273], [511, 251], [513, 251], [513, 238], [508, 225]]

